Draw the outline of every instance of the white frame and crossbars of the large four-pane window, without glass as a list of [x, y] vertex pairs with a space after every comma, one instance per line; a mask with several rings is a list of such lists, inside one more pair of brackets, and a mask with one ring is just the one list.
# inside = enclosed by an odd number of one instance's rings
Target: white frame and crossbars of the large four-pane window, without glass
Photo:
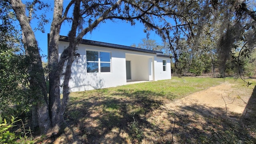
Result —
[[[98, 52], [98, 61], [88, 61], [87, 60], [87, 51], [92, 51], [92, 52]], [[110, 60], [109, 60], [109, 62], [105, 62], [105, 61], [100, 61], [100, 52], [107, 52], [107, 53], [109, 53], [109, 55], [110, 55]], [[111, 56], [111, 52], [108, 52], [108, 51], [102, 51], [102, 50], [90, 50], [90, 49], [86, 49], [86, 73], [87, 74], [97, 74], [97, 73], [103, 73], [103, 74], [106, 74], [106, 73], [112, 73], [112, 56]], [[87, 71], [87, 63], [88, 62], [94, 62], [94, 63], [98, 63], [98, 72], [88, 72]], [[110, 72], [102, 72], [102, 70], [101, 70], [101, 64], [110, 64]]]

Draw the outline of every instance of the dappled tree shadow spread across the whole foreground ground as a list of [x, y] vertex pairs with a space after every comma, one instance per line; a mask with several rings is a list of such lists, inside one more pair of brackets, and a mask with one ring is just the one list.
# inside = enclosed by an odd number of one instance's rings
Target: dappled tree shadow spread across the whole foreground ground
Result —
[[[170, 111], [163, 107], [162, 97], [161, 92], [123, 89], [71, 97], [65, 113], [65, 138], [60, 143], [140, 143], [143, 139], [144, 143], [170, 144], [172, 134], [174, 143], [188, 144], [249, 139], [246, 129], [226, 120], [224, 109], [194, 104]], [[232, 117], [240, 119], [239, 115]]]

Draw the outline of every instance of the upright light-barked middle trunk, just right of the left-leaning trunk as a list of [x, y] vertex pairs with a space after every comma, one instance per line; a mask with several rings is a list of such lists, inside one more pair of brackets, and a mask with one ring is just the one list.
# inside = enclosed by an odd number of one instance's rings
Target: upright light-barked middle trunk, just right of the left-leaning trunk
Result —
[[60, 38], [60, 27], [63, 22], [63, 0], [54, 1], [54, 14], [50, 29], [48, 46], [48, 66], [49, 66], [49, 110], [52, 126], [60, 126], [63, 118], [59, 116], [60, 110], [60, 76], [63, 70], [59, 66], [58, 46]]

